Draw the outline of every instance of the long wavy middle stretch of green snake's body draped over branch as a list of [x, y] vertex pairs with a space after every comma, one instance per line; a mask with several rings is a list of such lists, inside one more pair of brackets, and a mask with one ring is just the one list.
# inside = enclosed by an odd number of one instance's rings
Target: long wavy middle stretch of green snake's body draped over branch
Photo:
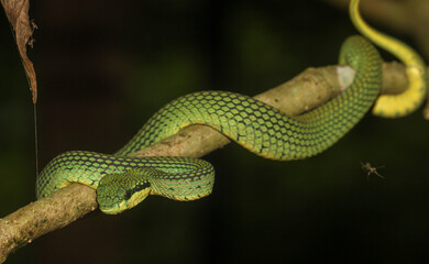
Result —
[[316, 155], [344, 135], [378, 95], [381, 58], [362, 37], [344, 42], [341, 64], [355, 70], [355, 81], [334, 100], [297, 118], [251, 97], [201, 91], [180, 97], [155, 113], [117, 154], [127, 155], [176, 134], [190, 124], [209, 125], [246, 150], [272, 160]]

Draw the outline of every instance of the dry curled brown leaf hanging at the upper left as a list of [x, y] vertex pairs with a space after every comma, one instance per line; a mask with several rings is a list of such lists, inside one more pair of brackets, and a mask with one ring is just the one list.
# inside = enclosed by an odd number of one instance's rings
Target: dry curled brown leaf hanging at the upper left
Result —
[[37, 101], [37, 81], [33, 63], [26, 56], [26, 45], [33, 44], [33, 31], [36, 29], [29, 19], [29, 0], [0, 0], [4, 12], [15, 33], [15, 41], [20, 52], [25, 74], [30, 81], [30, 90], [33, 96], [33, 103]]

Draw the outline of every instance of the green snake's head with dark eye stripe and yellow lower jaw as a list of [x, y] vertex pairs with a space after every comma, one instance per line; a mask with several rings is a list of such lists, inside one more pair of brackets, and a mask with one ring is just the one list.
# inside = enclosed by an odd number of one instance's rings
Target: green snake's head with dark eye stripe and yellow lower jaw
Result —
[[117, 215], [143, 201], [151, 194], [151, 183], [147, 179], [151, 170], [135, 168], [105, 175], [97, 187], [100, 210], [107, 215]]

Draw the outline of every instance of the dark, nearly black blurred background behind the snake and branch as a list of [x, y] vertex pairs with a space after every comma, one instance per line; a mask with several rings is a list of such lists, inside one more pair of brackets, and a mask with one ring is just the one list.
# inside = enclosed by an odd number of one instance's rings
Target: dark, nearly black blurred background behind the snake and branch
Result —
[[[310, 0], [31, 4], [41, 168], [64, 151], [114, 152], [178, 96], [256, 95], [336, 64], [355, 34], [344, 10]], [[3, 217], [35, 199], [35, 155], [31, 95], [2, 12], [0, 36]], [[416, 263], [429, 246], [428, 129], [420, 111], [367, 114], [327, 152], [289, 163], [231, 144], [205, 157], [217, 168], [208, 198], [148, 197], [119, 216], [96, 211], [8, 263]], [[361, 161], [385, 165], [385, 179], [366, 180]]]

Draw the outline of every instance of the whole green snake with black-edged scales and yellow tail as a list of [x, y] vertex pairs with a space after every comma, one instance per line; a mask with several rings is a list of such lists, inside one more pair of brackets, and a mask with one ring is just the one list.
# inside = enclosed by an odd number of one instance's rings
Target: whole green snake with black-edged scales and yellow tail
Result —
[[[413, 112], [426, 94], [422, 59], [405, 44], [367, 26], [358, 6], [359, 0], [351, 1], [350, 13], [355, 26], [405, 62], [410, 82], [404, 95], [380, 97], [374, 113], [388, 118]], [[326, 105], [295, 118], [251, 97], [228, 91], [201, 91], [178, 98], [156, 112], [113, 155], [73, 151], [56, 156], [37, 177], [37, 198], [80, 183], [97, 189], [103, 212], [119, 213], [148, 195], [176, 200], [205, 197], [215, 184], [215, 169], [208, 162], [189, 157], [127, 156], [191, 124], [209, 125], [266, 158], [292, 161], [316, 155], [362, 119], [381, 89], [382, 58], [362, 36], [351, 36], [343, 43], [340, 64], [355, 70], [351, 86]]]

